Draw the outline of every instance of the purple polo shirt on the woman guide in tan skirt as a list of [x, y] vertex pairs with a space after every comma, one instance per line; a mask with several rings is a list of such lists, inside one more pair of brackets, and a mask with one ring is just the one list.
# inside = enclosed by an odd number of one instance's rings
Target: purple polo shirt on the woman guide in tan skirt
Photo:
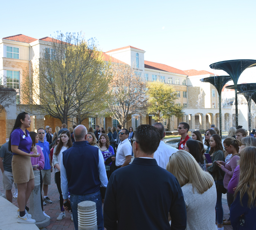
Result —
[[[21, 151], [24, 151], [26, 153], [31, 152], [32, 139], [27, 129], [26, 129], [26, 135], [24, 134], [21, 128], [14, 129], [10, 136], [10, 139], [11, 139], [11, 144], [19, 146], [18, 149], [20, 149]], [[13, 153], [13, 155], [18, 155], [18, 154]]]

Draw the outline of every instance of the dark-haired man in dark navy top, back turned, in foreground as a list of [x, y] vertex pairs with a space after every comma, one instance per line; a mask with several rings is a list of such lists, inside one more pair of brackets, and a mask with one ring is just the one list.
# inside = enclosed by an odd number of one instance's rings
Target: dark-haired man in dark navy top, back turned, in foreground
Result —
[[153, 158], [161, 139], [159, 131], [152, 125], [140, 125], [133, 139], [134, 161], [115, 170], [109, 179], [105, 228], [185, 230], [186, 205], [179, 181]]

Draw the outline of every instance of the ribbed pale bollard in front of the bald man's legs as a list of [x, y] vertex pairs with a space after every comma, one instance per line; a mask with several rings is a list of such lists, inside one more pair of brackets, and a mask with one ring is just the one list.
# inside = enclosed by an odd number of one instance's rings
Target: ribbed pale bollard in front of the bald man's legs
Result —
[[78, 230], [97, 230], [96, 203], [83, 201], [77, 206]]

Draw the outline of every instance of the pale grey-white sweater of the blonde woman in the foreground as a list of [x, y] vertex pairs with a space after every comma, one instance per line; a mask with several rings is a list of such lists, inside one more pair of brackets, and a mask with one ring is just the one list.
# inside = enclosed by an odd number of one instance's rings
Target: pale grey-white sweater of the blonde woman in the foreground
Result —
[[[212, 181], [213, 182], [213, 181]], [[217, 230], [215, 224], [215, 206], [217, 192], [215, 183], [203, 194], [199, 194], [192, 184], [185, 184], [182, 188], [186, 210], [186, 230]]]

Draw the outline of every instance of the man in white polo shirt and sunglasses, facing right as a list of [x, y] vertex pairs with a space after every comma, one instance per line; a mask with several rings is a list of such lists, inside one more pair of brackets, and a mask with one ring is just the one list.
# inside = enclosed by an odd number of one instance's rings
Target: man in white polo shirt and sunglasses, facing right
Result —
[[116, 158], [112, 157], [112, 160], [116, 160], [116, 167], [121, 168], [128, 165], [131, 162], [132, 158], [132, 146], [128, 140], [129, 131], [128, 129], [121, 129], [119, 134], [119, 142]]

